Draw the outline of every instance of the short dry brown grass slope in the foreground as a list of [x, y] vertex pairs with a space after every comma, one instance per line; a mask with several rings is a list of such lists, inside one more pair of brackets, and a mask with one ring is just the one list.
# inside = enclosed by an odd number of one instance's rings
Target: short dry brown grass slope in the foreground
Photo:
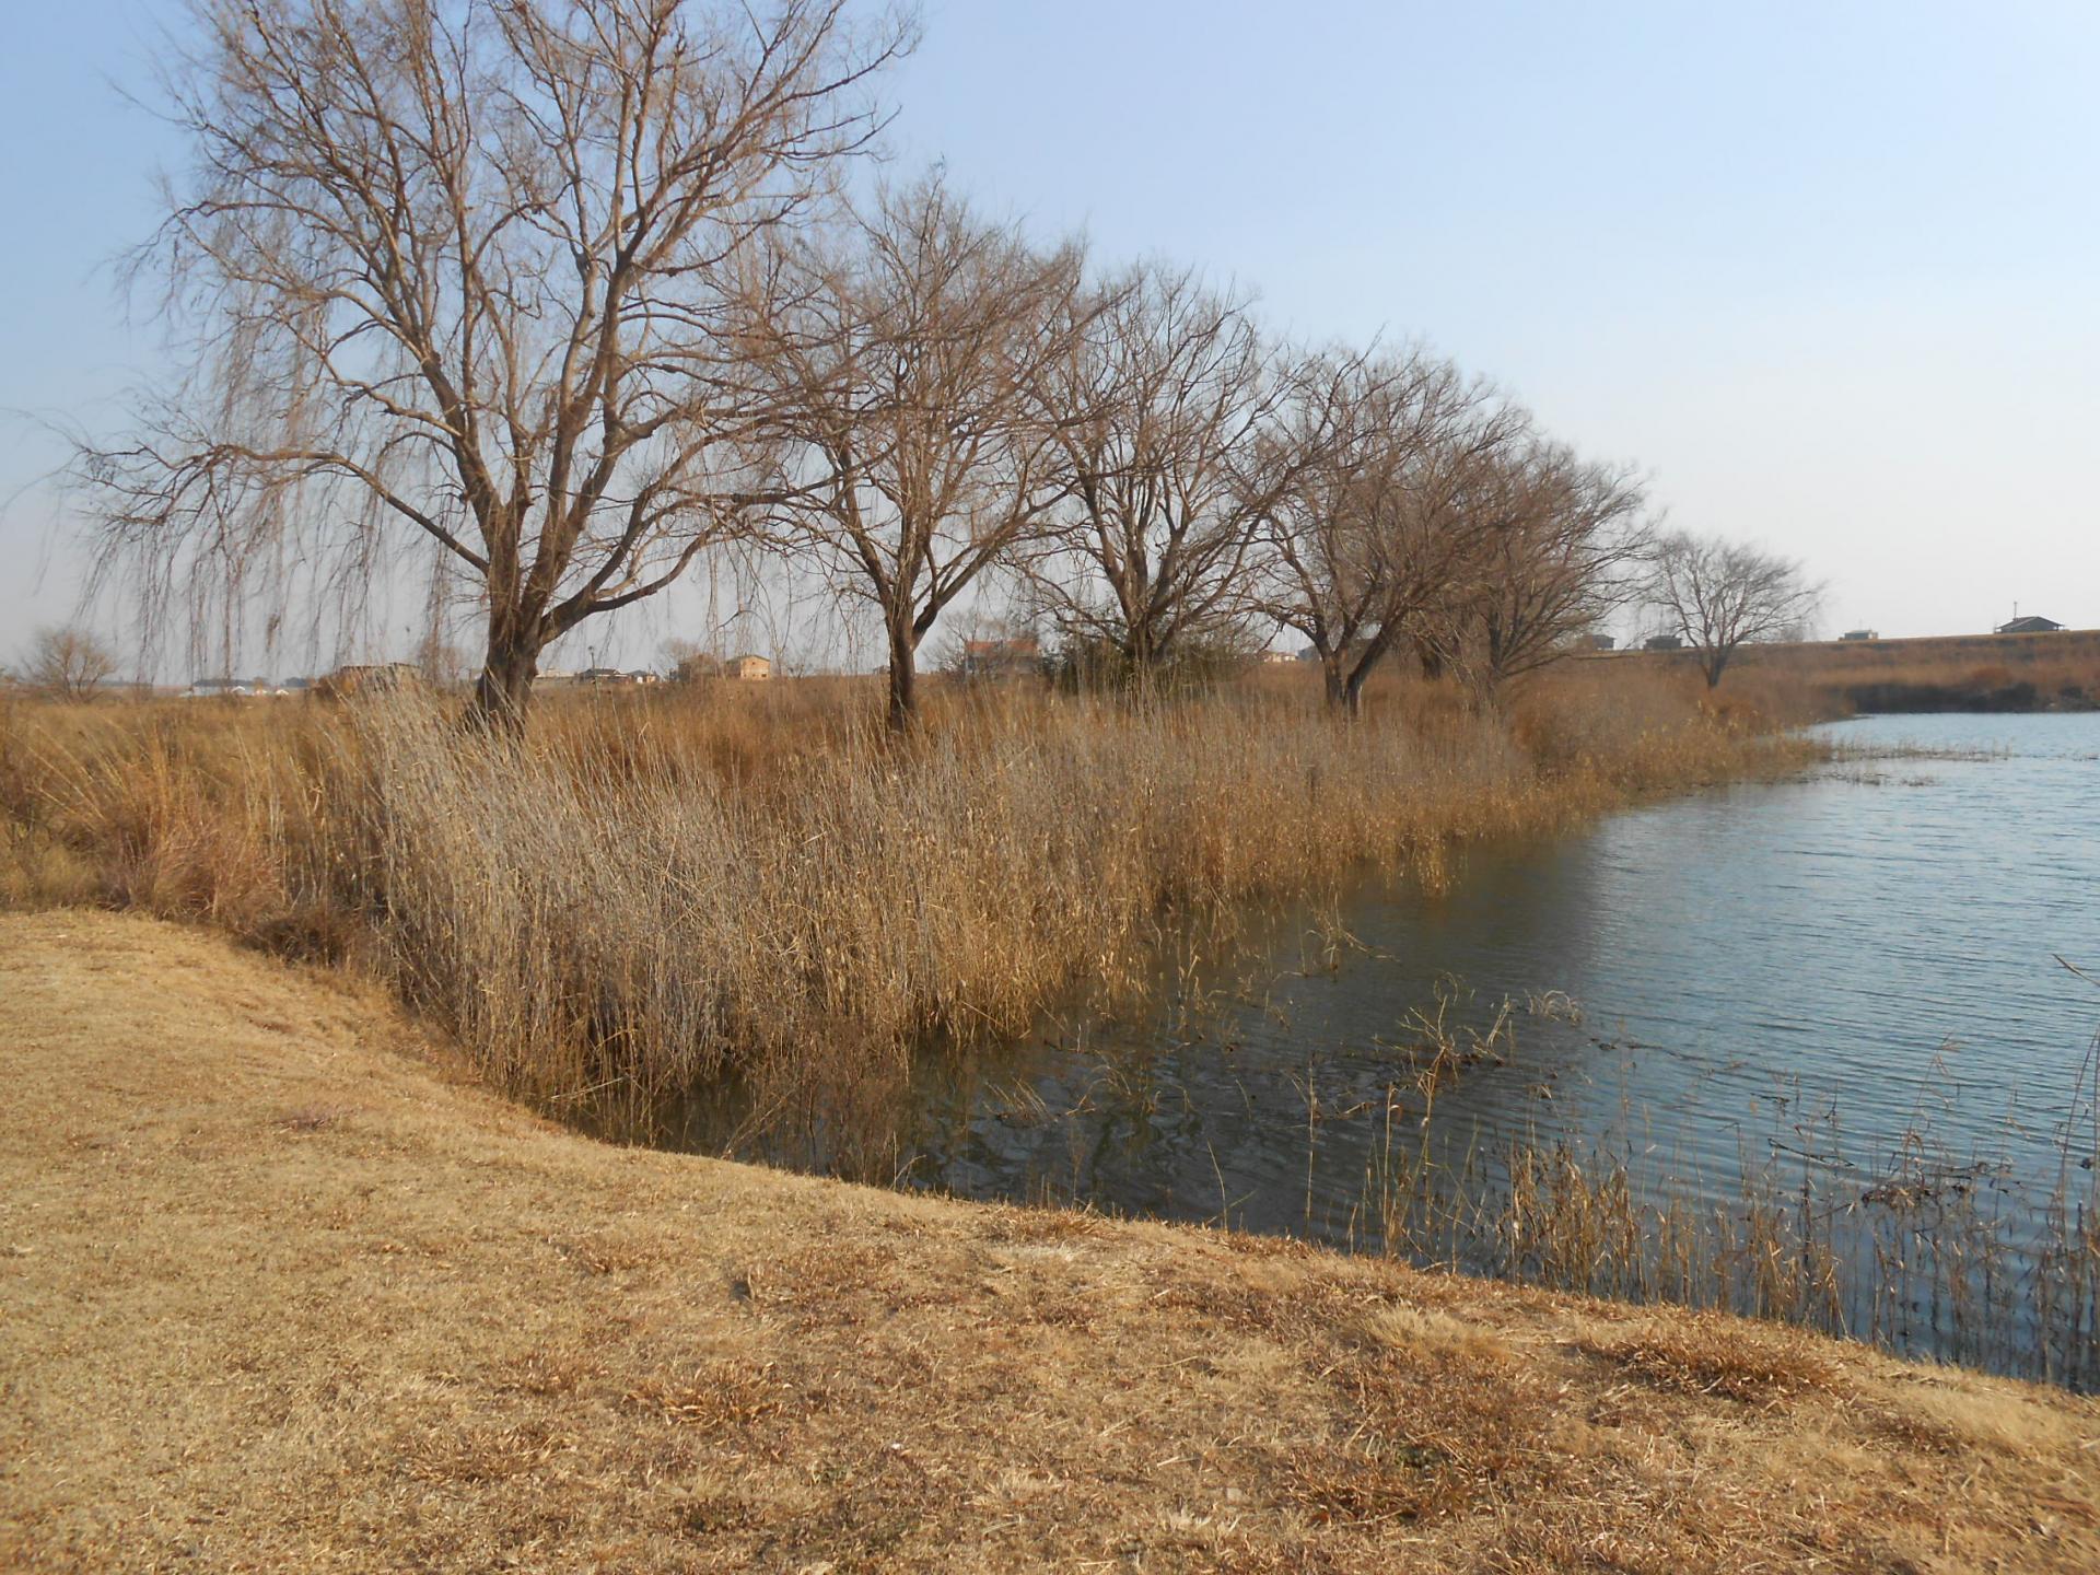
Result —
[[2100, 1409], [592, 1144], [376, 993], [0, 916], [0, 1567], [2085, 1571]]

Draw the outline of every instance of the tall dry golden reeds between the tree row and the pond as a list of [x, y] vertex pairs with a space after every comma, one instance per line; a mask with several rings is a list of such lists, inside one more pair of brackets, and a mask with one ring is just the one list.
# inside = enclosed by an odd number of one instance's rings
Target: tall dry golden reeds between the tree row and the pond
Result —
[[17, 706], [0, 880], [349, 960], [548, 1107], [640, 1119], [729, 1073], [850, 1130], [909, 1046], [1113, 1004], [1250, 905], [1814, 754], [1749, 689], [1592, 670], [1506, 712], [1392, 682], [1361, 724], [1296, 672], [1142, 708], [953, 687], [907, 743], [876, 706], [578, 695], [517, 750], [416, 704]]

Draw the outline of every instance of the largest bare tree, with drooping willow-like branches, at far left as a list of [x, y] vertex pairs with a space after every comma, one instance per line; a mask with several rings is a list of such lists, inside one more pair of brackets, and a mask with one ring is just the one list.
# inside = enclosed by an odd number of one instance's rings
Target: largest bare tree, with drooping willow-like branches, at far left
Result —
[[[149, 605], [449, 554], [475, 714], [766, 502], [729, 273], [825, 197], [909, 42], [846, 0], [189, 0], [193, 153], [132, 258], [181, 382], [78, 464]], [[405, 531], [405, 536], [403, 536]]]

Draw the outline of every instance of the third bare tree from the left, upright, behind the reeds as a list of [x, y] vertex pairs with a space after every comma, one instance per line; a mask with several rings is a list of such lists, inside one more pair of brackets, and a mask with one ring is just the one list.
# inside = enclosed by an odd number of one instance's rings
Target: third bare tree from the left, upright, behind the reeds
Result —
[[1256, 527], [1310, 452], [1264, 443], [1287, 380], [1243, 300], [1147, 265], [1088, 313], [1042, 382], [1067, 498], [1029, 584], [1071, 640], [1144, 678], [1243, 632]]

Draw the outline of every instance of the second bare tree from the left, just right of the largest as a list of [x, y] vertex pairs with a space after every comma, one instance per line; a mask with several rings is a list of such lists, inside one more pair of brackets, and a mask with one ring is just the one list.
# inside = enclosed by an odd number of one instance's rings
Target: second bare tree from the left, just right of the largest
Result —
[[783, 544], [880, 617], [890, 727], [911, 720], [928, 630], [1063, 494], [1031, 391], [1075, 321], [1079, 267], [934, 174], [844, 244], [796, 248], [771, 286], [796, 304], [754, 317], [794, 443]]

